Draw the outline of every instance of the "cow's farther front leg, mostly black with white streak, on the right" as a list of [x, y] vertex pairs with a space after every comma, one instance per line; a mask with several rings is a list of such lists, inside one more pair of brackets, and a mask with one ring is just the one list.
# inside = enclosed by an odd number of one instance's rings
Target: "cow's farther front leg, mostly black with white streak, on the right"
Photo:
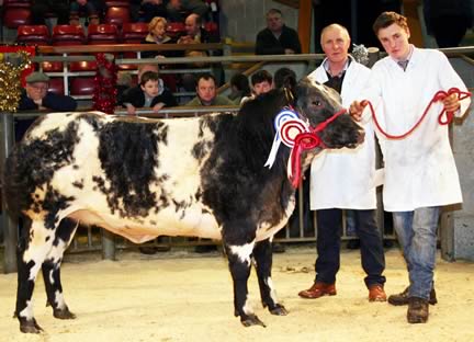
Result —
[[257, 242], [253, 249], [253, 259], [256, 261], [262, 305], [268, 307], [272, 315], [286, 316], [286, 309], [278, 303], [276, 292], [271, 278], [272, 258], [270, 240]]

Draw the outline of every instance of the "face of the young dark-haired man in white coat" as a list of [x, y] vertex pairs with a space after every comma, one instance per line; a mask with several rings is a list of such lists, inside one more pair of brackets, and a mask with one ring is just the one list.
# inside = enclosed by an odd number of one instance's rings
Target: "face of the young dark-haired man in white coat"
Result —
[[409, 55], [410, 33], [408, 27], [404, 29], [397, 24], [379, 30], [377, 38], [385, 52], [395, 59], [406, 59]]

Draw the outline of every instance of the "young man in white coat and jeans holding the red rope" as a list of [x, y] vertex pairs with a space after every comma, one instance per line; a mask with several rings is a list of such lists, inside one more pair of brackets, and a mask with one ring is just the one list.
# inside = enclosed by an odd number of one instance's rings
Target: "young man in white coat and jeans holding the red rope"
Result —
[[[374, 105], [387, 134], [399, 136], [387, 138], [377, 130], [385, 162], [384, 207], [393, 213], [409, 275], [409, 286], [390, 296], [388, 303], [408, 304], [408, 322], [425, 323], [429, 303], [437, 301], [433, 272], [440, 209], [462, 202], [449, 127], [440, 125], [438, 116], [443, 110], [462, 116], [471, 100], [460, 101], [455, 93], [447, 95], [433, 103], [419, 126], [406, 135], [438, 91], [467, 90], [442, 53], [408, 43], [410, 32], [405, 16], [384, 12], [373, 30], [388, 56], [373, 66], [361, 99]], [[351, 115], [362, 122], [371, 119], [364, 107], [365, 102], [354, 101]]]

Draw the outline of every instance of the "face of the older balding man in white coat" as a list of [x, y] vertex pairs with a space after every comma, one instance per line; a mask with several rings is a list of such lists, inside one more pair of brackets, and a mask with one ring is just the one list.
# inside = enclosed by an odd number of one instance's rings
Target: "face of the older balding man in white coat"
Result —
[[348, 58], [350, 38], [340, 27], [326, 29], [320, 39], [323, 52], [330, 62], [341, 62]]

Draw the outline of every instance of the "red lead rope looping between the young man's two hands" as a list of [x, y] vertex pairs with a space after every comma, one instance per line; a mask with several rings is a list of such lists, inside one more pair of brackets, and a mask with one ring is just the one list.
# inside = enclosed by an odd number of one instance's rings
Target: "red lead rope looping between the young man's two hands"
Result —
[[[387, 137], [388, 139], [403, 139], [403, 138], [405, 138], [406, 136], [410, 135], [410, 134], [411, 134], [411, 133], [413, 133], [413, 132], [414, 132], [414, 130], [419, 126], [419, 124], [421, 124], [421, 122], [425, 119], [425, 116], [428, 114], [429, 109], [431, 107], [431, 105], [432, 105], [435, 102], [442, 101], [442, 100], [444, 100], [447, 96], [449, 96], [449, 95], [451, 95], [451, 94], [458, 94], [458, 99], [459, 99], [459, 100], [464, 100], [464, 99], [471, 96], [471, 93], [465, 92], [465, 91], [461, 91], [461, 90], [459, 90], [458, 88], [451, 88], [450, 90], [448, 90], [448, 92], [445, 92], [445, 91], [443, 91], [443, 90], [438, 91], [438, 92], [435, 94], [435, 96], [431, 99], [430, 103], [429, 103], [428, 106], [426, 107], [424, 114], [422, 114], [421, 117], [418, 119], [418, 122], [417, 122], [417, 123], [416, 123], [416, 124], [415, 124], [410, 129], [408, 129], [407, 133], [402, 134], [402, 135], [391, 135], [391, 134], [386, 133], [386, 132], [381, 127], [381, 125], [380, 125], [380, 123], [379, 123], [379, 121], [377, 121], [377, 118], [376, 118], [375, 111], [374, 111], [374, 109], [373, 109], [373, 106], [372, 106], [372, 103], [371, 103], [370, 101], [368, 101], [368, 100], [364, 100], [364, 101], [362, 101], [362, 104], [368, 104], [368, 105], [369, 105], [369, 107], [370, 107], [370, 110], [371, 110], [371, 112], [372, 112], [372, 117], [373, 117], [373, 119], [374, 119], [375, 126], [377, 127], [377, 129], [379, 129], [379, 130], [380, 130], [380, 132], [381, 132], [385, 137]], [[444, 115], [444, 114], [445, 114], [445, 119], [443, 121], [443, 115]], [[439, 114], [439, 116], [438, 116], [438, 123], [439, 123], [440, 125], [448, 125], [448, 124], [450, 124], [450, 123], [452, 122], [453, 116], [454, 116], [454, 113], [453, 113], [453, 112], [447, 112], [447, 110], [443, 109], [443, 110], [441, 111], [441, 113]]]

